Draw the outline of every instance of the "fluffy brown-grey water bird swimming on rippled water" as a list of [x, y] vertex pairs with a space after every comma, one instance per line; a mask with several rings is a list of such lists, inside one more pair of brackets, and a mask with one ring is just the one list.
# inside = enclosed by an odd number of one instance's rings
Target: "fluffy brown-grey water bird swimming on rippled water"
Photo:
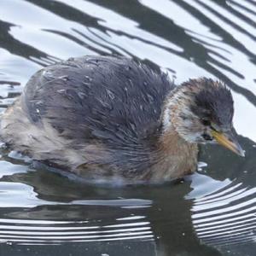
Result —
[[161, 183], [195, 172], [199, 143], [244, 155], [221, 81], [176, 85], [121, 56], [70, 58], [35, 73], [3, 113], [1, 138], [96, 182]]

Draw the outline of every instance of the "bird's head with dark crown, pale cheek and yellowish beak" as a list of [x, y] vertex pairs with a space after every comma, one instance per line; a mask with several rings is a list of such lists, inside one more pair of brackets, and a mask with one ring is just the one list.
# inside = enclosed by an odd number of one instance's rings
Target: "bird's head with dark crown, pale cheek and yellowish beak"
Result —
[[212, 79], [190, 79], [166, 101], [164, 129], [172, 126], [189, 143], [219, 143], [244, 156], [233, 127], [230, 90]]

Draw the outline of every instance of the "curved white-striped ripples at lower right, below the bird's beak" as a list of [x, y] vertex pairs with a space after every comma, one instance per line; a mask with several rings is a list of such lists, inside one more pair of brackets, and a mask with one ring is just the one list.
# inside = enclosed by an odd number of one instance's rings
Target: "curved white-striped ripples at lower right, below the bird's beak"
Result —
[[[211, 183], [210, 177], [204, 178]], [[220, 250], [254, 243], [256, 188], [245, 188], [242, 183], [228, 183], [221, 187], [224, 182], [218, 183], [220, 188], [216, 191], [195, 197], [191, 211], [196, 235], [207, 245]]]

